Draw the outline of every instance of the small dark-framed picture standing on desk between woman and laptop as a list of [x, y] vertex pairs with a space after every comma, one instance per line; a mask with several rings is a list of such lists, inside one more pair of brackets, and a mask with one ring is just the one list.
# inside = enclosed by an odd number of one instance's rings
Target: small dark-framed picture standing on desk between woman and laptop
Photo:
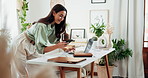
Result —
[[84, 39], [85, 29], [71, 29], [70, 39]]

